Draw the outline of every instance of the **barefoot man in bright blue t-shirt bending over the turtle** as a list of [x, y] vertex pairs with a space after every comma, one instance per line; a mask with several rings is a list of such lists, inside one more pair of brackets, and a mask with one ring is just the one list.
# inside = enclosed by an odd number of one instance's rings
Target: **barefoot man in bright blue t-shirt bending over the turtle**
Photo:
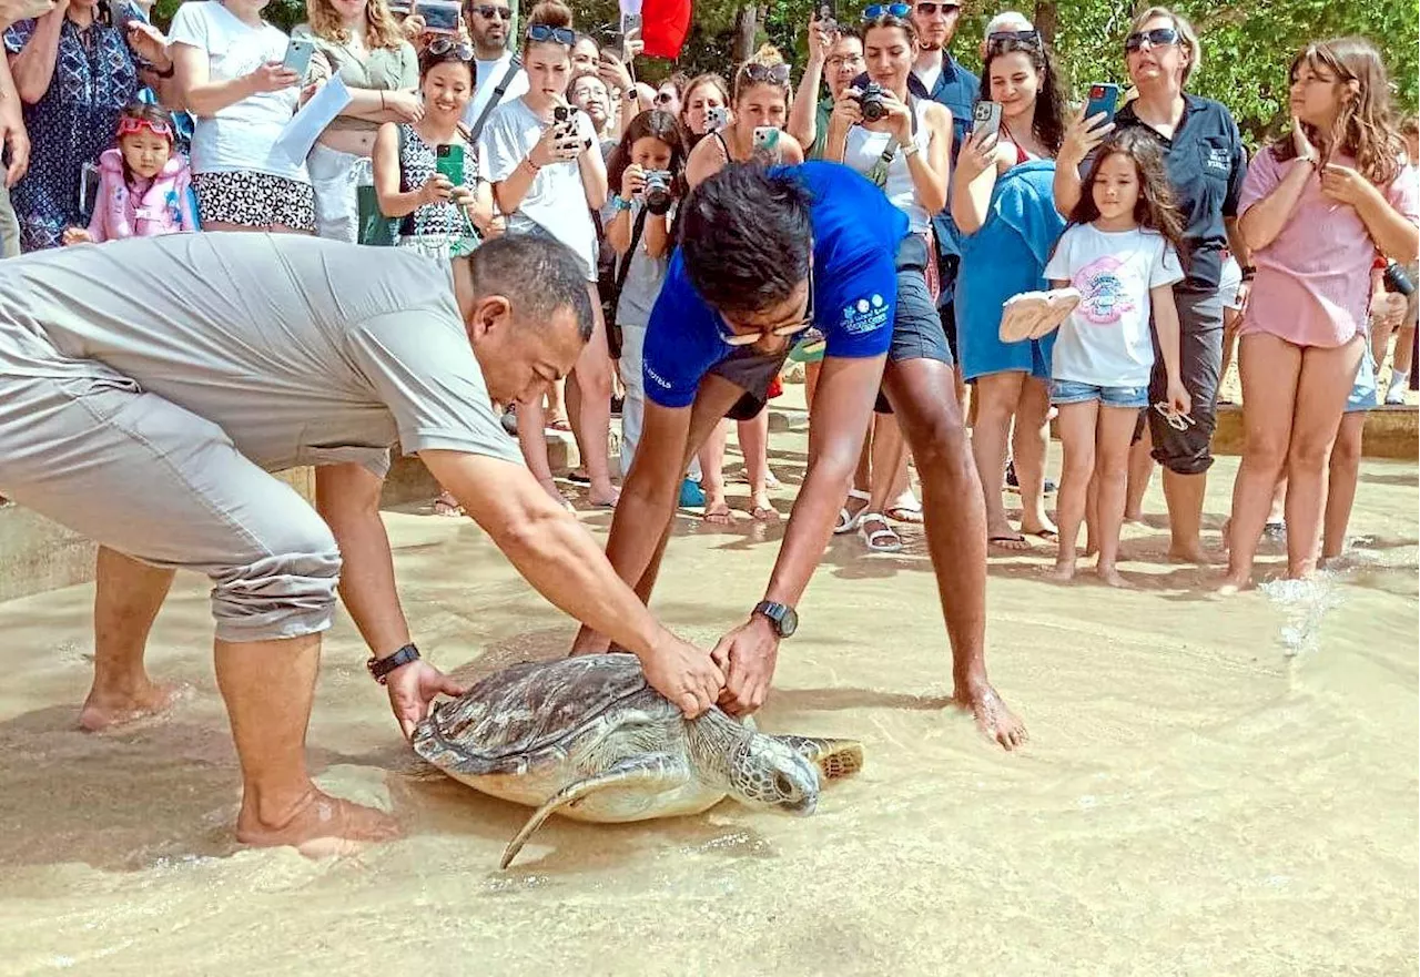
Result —
[[[727, 166], [692, 192], [680, 222], [646, 331], [640, 443], [606, 544], [616, 572], [650, 599], [690, 459], [723, 417], [758, 413], [790, 346], [816, 328], [826, 352], [808, 470], [764, 601], [716, 646], [721, 706], [763, 704], [876, 405], [897, 415], [917, 459], [956, 700], [1014, 748], [1025, 728], [985, 675], [985, 511], [924, 244], [880, 189], [838, 163]], [[606, 646], [584, 628], [574, 650]]]

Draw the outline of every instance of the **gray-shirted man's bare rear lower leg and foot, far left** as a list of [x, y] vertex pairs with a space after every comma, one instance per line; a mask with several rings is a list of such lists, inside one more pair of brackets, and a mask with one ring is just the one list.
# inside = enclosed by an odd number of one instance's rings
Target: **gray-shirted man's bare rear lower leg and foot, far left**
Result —
[[94, 687], [80, 710], [80, 726], [98, 731], [172, 704], [176, 686], [159, 684], [143, 669], [143, 649], [173, 571], [98, 548], [94, 589]]

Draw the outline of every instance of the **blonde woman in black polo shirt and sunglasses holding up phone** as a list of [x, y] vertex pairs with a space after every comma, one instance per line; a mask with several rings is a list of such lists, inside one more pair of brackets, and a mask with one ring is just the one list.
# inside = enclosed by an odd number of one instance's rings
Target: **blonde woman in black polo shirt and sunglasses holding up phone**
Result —
[[[1223, 365], [1223, 298], [1218, 280], [1223, 253], [1230, 249], [1244, 268], [1240, 305], [1251, 281], [1247, 250], [1237, 233], [1238, 193], [1247, 175], [1247, 153], [1237, 122], [1220, 102], [1183, 91], [1198, 70], [1203, 50], [1193, 26], [1166, 7], [1152, 7], [1135, 18], [1125, 43], [1129, 78], [1139, 97], [1122, 108], [1113, 126], [1091, 128], [1079, 119], [1065, 133], [1055, 168], [1055, 206], [1069, 213], [1081, 196], [1086, 158], [1113, 128], [1140, 126], [1153, 132], [1164, 152], [1169, 180], [1183, 210], [1187, 277], [1174, 287], [1180, 324], [1180, 371], [1193, 398], [1186, 419], [1147, 410], [1153, 457], [1164, 466], [1169, 501], [1169, 554], [1207, 562], [1198, 531], [1203, 493], [1213, 464], [1211, 442]], [[1149, 402], [1166, 400], [1162, 359], [1149, 385]]]

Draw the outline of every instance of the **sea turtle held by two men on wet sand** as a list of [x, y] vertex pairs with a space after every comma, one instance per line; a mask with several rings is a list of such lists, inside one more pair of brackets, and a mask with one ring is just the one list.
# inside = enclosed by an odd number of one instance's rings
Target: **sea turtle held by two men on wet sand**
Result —
[[633, 655], [497, 672], [430, 711], [413, 747], [454, 780], [537, 808], [500, 868], [552, 814], [645, 821], [700, 814], [726, 797], [812, 814], [821, 775], [863, 765], [852, 740], [767, 736], [716, 707], [686, 720]]

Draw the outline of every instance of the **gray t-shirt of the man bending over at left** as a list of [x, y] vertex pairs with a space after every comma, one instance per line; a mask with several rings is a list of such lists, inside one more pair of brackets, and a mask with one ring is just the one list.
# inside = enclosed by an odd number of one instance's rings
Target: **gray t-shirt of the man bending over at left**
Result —
[[[34, 355], [48, 348], [53, 358]], [[219, 425], [271, 471], [359, 462], [382, 473], [396, 440], [406, 453], [523, 460], [450, 266], [420, 254], [207, 233], [0, 263], [0, 369], [89, 378], [94, 361]]]

